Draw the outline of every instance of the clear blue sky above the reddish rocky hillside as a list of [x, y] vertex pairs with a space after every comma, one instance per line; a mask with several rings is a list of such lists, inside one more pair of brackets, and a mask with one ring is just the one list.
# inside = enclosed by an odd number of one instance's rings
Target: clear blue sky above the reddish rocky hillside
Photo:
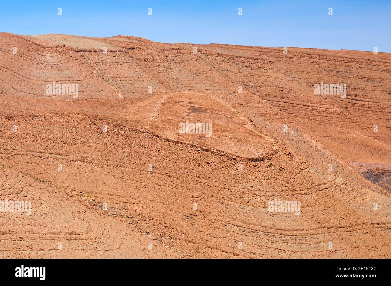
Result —
[[391, 0], [0, 0], [0, 32], [22, 35], [391, 52], [390, 31]]

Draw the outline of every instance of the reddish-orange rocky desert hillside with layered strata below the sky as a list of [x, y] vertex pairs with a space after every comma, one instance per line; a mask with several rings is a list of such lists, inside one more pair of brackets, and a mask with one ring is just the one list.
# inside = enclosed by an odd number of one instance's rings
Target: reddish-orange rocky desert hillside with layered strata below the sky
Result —
[[31, 202], [0, 211], [0, 258], [391, 258], [390, 75], [389, 53], [0, 33], [0, 201]]

